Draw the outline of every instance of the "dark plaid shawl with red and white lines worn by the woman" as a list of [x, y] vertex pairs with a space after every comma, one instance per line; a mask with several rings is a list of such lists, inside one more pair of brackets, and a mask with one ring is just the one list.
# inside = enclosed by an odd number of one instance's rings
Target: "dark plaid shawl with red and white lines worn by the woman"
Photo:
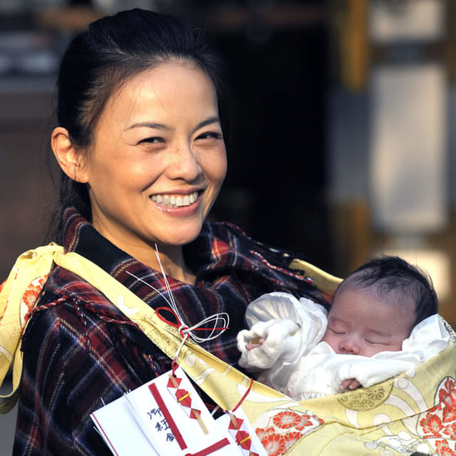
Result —
[[[66, 213], [67, 251], [90, 259], [152, 308], [166, 306], [162, 274], [129, 257], [74, 209]], [[167, 277], [187, 326], [227, 312], [230, 327], [204, 348], [237, 366], [236, 336], [250, 301], [271, 291], [328, 299], [286, 269], [289, 255], [269, 249], [232, 224], [204, 224], [184, 248], [195, 285]], [[135, 277], [128, 274], [134, 274]], [[141, 279], [141, 280], [140, 280]], [[24, 371], [14, 455], [110, 455], [90, 413], [170, 369], [167, 358], [97, 289], [56, 267], [22, 341]], [[121, 417], [118, 417], [121, 419]]]

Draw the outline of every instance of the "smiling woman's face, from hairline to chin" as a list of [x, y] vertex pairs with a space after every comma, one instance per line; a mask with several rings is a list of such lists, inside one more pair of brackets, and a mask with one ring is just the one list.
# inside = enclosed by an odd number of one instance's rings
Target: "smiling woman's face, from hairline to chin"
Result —
[[199, 234], [226, 169], [212, 81], [195, 64], [162, 63], [105, 105], [83, 162], [93, 225], [137, 257], [155, 243], [187, 244]]

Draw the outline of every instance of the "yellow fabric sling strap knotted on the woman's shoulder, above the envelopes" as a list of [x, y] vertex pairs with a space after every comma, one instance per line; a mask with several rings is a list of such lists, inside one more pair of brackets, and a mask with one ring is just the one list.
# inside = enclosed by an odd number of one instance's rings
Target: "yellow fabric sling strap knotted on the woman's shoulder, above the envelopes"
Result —
[[[21, 379], [20, 338], [26, 327], [25, 319], [21, 318], [22, 296], [31, 281], [48, 274], [53, 263], [74, 272], [100, 290], [170, 358], [175, 357], [182, 343], [182, 337], [176, 328], [158, 318], [150, 306], [99, 266], [74, 252], [65, 254], [63, 248], [55, 244], [38, 247], [19, 257], [0, 294], [0, 313], [3, 315], [0, 318], [0, 383], [11, 363], [14, 364], [13, 390], [9, 395], [0, 396], [0, 413], [8, 412], [16, 403]], [[247, 388], [250, 383], [246, 375], [190, 340], [180, 348], [177, 362], [225, 410], [232, 409], [239, 403], [242, 388]], [[257, 382], [252, 385], [252, 390], [275, 400], [284, 397], [278, 391]]]

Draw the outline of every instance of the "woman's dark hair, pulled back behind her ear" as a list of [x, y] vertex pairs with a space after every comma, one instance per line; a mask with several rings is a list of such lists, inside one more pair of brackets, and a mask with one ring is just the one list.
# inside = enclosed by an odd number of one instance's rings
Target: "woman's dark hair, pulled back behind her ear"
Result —
[[[58, 73], [57, 120], [72, 144], [88, 153], [96, 125], [110, 95], [148, 68], [179, 58], [196, 63], [214, 84], [224, 133], [229, 130], [224, 63], [200, 30], [173, 16], [132, 9], [94, 21], [79, 33], [63, 55]], [[229, 133], [229, 132], [228, 132]], [[60, 199], [51, 219], [53, 240], [63, 242], [63, 212], [76, 207], [91, 219], [86, 184], [63, 174]]]

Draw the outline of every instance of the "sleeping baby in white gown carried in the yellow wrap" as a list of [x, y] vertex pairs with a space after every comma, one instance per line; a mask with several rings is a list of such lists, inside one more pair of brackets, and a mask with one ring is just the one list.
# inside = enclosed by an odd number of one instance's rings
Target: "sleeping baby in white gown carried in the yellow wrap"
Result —
[[309, 299], [272, 293], [249, 305], [246, 321], [239, 365], [296, 399], [371, 386], [449, 341], [430, 279], [398, 257], [373, 259], [350, 274], [327, 317]]

